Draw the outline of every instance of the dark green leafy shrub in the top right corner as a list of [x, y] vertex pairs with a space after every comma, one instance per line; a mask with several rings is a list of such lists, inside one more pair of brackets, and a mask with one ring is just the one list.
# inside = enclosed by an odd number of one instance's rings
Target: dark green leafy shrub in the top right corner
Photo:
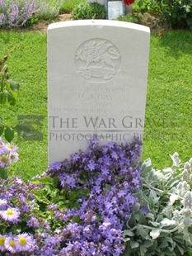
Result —
[[172, 28], [185, 28], [192, 31], [192, 0], [139, 0], [142, 12], [160, 15], [160, 21], [166, 21]]

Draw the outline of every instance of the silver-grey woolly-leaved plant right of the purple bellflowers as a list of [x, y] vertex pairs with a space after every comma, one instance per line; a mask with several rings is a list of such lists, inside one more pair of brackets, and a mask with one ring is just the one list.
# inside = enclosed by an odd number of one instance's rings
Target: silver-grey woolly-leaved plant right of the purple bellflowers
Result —
[[126, 223], [124, 255], [189, 255], [192, 250], [192, 159], [156, 170], [143, 163], [138, 204]]

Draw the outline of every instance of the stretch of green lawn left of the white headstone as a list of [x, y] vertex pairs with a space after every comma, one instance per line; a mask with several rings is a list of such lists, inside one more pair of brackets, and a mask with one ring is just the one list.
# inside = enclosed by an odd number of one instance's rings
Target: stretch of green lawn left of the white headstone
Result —
[[43, 116], [43, 140], [13, 140], [19, 146], [20, 160], [16, 172], [23, 178], [42, 173], [47, 168], [47, 61], [46, 35], [30, 32], [0, 32], [0, 55], [9, 55], [11, 78], [21, 83], [16, 107], [2, 106], [0, 116], [16, 126], [18, 116]]

